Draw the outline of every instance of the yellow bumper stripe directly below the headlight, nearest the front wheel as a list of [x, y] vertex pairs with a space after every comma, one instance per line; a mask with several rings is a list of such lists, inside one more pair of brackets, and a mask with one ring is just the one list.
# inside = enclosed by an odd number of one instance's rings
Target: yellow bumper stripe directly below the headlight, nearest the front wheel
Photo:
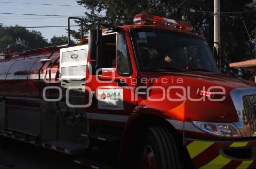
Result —
[[207, 142], [207, 141], [193, 141], [187, 146], [189, 155], [191, 159], [193, 159], [198, 154], [202, 153], [205, 149], [210, 147], [214, 142]]

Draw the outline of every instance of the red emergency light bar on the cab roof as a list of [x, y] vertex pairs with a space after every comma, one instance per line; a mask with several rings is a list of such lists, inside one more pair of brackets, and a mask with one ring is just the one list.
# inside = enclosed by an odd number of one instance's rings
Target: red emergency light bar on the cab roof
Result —
[[173, 19], [167, 19], [167, 18], [163, 18], [161, 16], [148, 15], [145, 13], [137, 14], [134, 17], [133, 22], [138, 25], [146, 25], [146, 24], [166, 25], [166, 26], [170, 26], [173, 28], [178, 28], [178, 29], [182, 29], [182, 30], [186, 30], [186, 31], [193, 30], [193, 26], [187, 22], [177, 21], [177, 20], [173, 20]]

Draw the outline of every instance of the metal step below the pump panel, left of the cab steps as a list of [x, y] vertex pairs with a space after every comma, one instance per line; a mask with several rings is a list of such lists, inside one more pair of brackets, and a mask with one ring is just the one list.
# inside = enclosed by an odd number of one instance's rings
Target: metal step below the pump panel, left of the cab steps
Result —
[[42, 143], [42, 147], [59, 151], [66, 154], [84, 153], [87, 146], [69, 141], [49, 141]]

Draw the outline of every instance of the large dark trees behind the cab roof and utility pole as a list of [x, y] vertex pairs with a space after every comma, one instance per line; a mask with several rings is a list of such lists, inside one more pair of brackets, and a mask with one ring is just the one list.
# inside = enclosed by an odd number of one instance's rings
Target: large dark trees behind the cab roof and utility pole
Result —
[[[112, 25], [133, 24], [133, 18], [138, 13], [149, 13], [190, 22], [194, 26], [194, 32], [206, 38], [209, 44], [213, 44], [213, 0], [186, 1], [180, 7], [183, 0], [77, 0], [77, 3], [86, 8], [84, 18], [84, 31], [95, 28], [99, 22]], [[253, 0], [223, 0], [220, 2], [220, 11], [252, 11], [256, 4]], [[196, 12], [190, 12], [190, 8]], [[248, 54], [248, 38], [245, 25], [249, 32], [254, 29], [254, 13], [221, 13], [221, 47], [223, 63], [241, 61], [255, 58], [255, 53]], [[77, 37], [77, 34], [73, 36]], [[225, 66], [223, 65], [223, 66]]]

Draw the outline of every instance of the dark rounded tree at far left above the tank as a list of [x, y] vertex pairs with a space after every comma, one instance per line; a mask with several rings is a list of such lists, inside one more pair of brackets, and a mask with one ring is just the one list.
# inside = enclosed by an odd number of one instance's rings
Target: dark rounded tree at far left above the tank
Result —
[[14, 47], [15, 52], [49, 46], [47, 39], [39, 31], [30, 31], [18, 25], [5, 28], [0, 24], [0, 52], [5, 52], [9, 44]]

